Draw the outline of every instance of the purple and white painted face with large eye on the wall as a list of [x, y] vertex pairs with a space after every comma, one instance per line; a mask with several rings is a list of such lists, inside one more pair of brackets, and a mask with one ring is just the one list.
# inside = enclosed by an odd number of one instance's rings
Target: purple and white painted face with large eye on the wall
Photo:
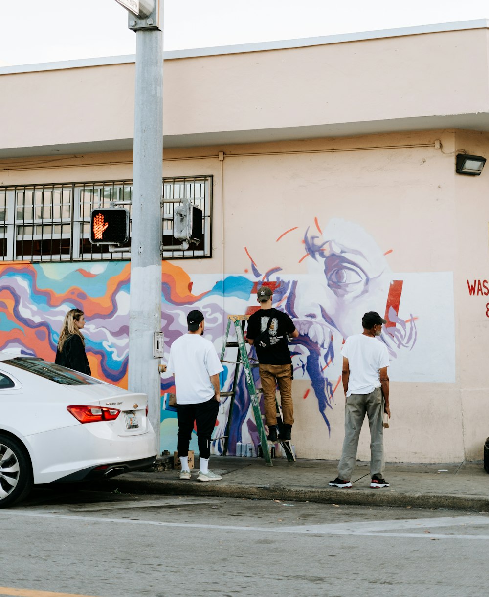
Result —
[[[285, 238], [286, 234], [279, 240], [283, 242]], [[300, 261], [307, 260], [307, 275], [283, 275], [280, 267], [260, 272], [250, 257], [253, 290], [256, 293], [263, 281], [273, 285], [274, 306], [285, 310], [294, 321], [299, 331], [299, 337], [291, 344], [294, 378], [310, 380], [329, 432], [328, 409], [332, 408], [341, 381], [341, 345], [344, 338], [362, 331], [363, 313], [378, 310], [386, 314], [381, 340], [392, 358], [400, 349], [414, 346], [416, 328], [412, 316], [408, 321], [399, 318], [402, 281], [393, 280], [386, 256], [362, 227], [335, 219], [321, 230], [316, 220], [305, 232], [304, 246], [306, 253]], [[255, 356], [254, 349], [250, 355]], [[339, 358], [335, 359], [335, 355]], [[259, 386], [256, 375], [255, 382]], [[243, 378], [239, 387], [230, 431], [231, 447], [236, 441], [258, 441]], [[307, 393], [308, 390], [306, 396]], [[224, 416], [220, 421], [219, 435], [224, 434], [226, 420]]]

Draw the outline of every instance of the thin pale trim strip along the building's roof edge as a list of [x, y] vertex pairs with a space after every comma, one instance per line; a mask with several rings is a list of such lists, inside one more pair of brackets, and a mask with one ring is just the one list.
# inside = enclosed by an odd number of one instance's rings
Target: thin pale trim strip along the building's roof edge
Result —
[[[418, 25], [414, 27], [398, 27], [397, 29], [381, 29], [377, 31], [363, 31], [357, 33], [339, 33], [311, 38], [282, 39], [279, 41], [256, 42], [253, 44], [221, 45], [210, 48], [190, 48], [188, 50], [170, 50], [163, 53], [165, 60], [181, 58], [196, 58], [204, 56], [219, 56], [224, 54], [242, 54], [246, 52], [262, 52], [267, 50], [285, 50], [288, 48], [304, 48], [313, 45], [341, 44], [352, 41], [366, 41], [368, 39], [383, 39], [406, 35], [422, 35], [424, 33], [444, 33], [462, 31], [466, 29], [489, 29], [489, 19], [475, 19], [470, 21], [456, 21], [454, 23], [437, 23]], [[10, 75], [26, 72], [40, 72], [42, 70], [62, 70], [83, 68], [87, 66], [106, 66], [109, 64], [126, 64], [135, 62], [135, 54], [126, 56], [107, 56], [39, 64], [22, 64], [0, 67], [0, 75]]]

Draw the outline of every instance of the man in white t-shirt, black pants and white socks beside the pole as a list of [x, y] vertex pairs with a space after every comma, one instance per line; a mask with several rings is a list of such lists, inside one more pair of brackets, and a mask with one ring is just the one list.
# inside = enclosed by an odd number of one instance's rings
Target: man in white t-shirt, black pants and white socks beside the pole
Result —
[[194, 421], [200, 470], [197, 481], [220, 481], [221, 476], [209, 470], [210, 436], [216, 424], [221, 399], [219, 373], [221, 361], [212, 342], [202, 336], [204, 316], [198, 310], [187, 315], [188, 333], [177, 338], [170, 347], [167, 370], [175, 377], [178, 442], [176, 449], [182, 463], [181, 479], [190, 479], [188, 446]]

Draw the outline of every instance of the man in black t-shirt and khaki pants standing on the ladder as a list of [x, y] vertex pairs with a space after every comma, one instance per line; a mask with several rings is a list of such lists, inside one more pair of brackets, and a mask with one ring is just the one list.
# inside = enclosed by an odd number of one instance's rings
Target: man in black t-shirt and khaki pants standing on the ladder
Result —
[[[268, 426], [268, 439], [291, 439], [294, 424], [292, 404], [292, 359], [288, 347], [288, 336], [297, 338], [298, 331], [292, 319], [273, 309], [273, 293], [268, 286], [258, 290], [260, 309], [250, 315], [246, 340], [255, 346], [259, 374], [265, 404], [265, 423]], [[279, 384], [280, 404], [282, 405], [283, 430], [277, 438], [276, 385]]]

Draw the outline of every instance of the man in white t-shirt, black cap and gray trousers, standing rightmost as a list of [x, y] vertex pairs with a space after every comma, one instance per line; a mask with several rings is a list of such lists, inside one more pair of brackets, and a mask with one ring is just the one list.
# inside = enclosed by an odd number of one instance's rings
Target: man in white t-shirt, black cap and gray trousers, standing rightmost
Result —
[[389, 353], [377, 340], [386, 320], [375, 311], [362, 318], [363, 333], [346, 339], [343, 354], [343, 389], [345, 390], [345, 439], [338, 464], [338, 476], [329, 485], [352, 487], [352, 473], [358, 440], [365, 414], [370, 427], [370, 487], [389, 487], [384, 479], [384, 412], [389, 408]]

